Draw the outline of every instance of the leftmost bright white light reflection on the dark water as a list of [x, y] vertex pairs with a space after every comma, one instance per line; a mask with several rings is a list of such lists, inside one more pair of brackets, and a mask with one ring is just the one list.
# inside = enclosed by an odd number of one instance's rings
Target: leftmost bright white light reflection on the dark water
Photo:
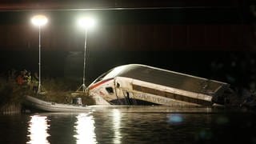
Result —
[[50, 136], [47, 130], [49, 129], [49, 125], [47, 124], [46, 116], [33, 115], [31, 116], [28, 132], [28, 137], [30, 138], [30, 144], [47, 144], [50, 143], [47, 140], [47, 137]]

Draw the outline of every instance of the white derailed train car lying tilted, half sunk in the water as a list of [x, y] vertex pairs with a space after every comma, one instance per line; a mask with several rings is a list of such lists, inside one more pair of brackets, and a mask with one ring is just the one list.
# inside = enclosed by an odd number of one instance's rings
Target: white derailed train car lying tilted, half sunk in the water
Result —
[[212, 106], [229, 84], [152, 66], [117, 66], [88, 86], [98, 105]]

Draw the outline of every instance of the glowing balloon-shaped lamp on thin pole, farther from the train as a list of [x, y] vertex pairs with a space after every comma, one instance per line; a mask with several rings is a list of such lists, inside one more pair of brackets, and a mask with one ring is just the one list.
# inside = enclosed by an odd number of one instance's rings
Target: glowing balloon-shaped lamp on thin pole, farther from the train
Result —
[[38, 26], [39, 33], [38, 33], [38, 48], [39, 48], [39, 78], [38, 78], [38, 94], [42, 92], [42, 85], [41, 85], [41, 27], [46, 25], [48, 22], [48, 19], [44, 15], [35, 15], [34, 17], [31, 18], [31, 22], [34, 26]]

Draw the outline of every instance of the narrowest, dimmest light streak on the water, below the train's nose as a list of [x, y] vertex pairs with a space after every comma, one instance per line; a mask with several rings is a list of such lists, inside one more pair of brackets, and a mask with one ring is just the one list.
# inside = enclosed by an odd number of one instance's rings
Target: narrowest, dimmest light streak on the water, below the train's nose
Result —
[[120, 123], [121, 123], [121, 112], [118, 109], [113, 110], [113, 130], [114, 130], [114, 139], [113, 143], [121, 143], [121, 132], [120, 132]]

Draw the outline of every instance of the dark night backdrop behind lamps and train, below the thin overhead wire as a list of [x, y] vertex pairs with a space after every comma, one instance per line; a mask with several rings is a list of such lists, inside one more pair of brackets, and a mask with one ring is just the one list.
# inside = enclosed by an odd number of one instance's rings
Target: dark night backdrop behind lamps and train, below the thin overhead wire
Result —
[[86, 85], [100, 74], [129, 63], [193, 74], [250, 87], [255, 82], [254, 16], [239, 6], [177, 6], [126, 10], [3, 10], [0, 12], [1, 73], [38, 70], [34, 14], [46, 14], [42, 28], [42, 78], [81, 78], [82, 15], [97, 26], [88, 32]]

